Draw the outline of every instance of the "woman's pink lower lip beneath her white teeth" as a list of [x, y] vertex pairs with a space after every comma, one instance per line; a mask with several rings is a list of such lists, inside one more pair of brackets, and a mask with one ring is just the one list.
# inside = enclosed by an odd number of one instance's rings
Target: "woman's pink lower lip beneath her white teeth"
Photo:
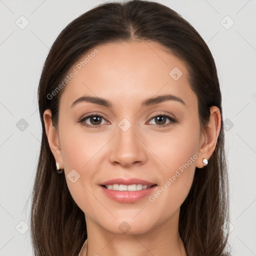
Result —
[[151, 186], [150, 188], [141, 189], [137, 191], [118, 191], [118, 190], [112, 190], [107, 189], [104, 186], [101, 186], [104, 193], [112, 198], [115, 201], [118, 202], [135, 202], [139, 199], [143, 198], [144, 196], [150, 194], [154, 189], [156, 185]]

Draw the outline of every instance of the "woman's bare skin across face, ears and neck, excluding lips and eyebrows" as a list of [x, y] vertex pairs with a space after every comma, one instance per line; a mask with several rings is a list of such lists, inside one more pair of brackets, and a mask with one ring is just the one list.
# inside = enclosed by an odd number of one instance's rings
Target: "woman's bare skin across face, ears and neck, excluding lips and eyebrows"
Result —
[[[219, 109], [210, 108], [209, 124], [200, 132], [197, 98], [187, 80], [187, 68], [157, 42], [107, 43], [96, 48], [95, 57], [65, 86], [58, 127], [52, 126], [49, 109], [43, 115], [55, 160], [65, 176], [72, 169], [80, 175], [74, 183], [66, 176], [66, 182], [85, 214], [88, 255], [186, 255], [178, 233], [179, 209], [195, 167], [202, 168], [202, 159], [209, 159], [215, 148]], [[178, 80], [169, 75], [174, 67], [183, 73]], [[163, 94], [178, 96], [185, 105], [167, 100], [140, 106], [144, 99]], [[105, 98], [113, 106], [81, 102], [70, 108], [83, 95]], [[98, 120], [100, 127], [78, 122], [95, 112], [103, 116]], [[161, 114], [175, 116], [178, 122], [152, 118]], [[123, 118], [131, 123], [125, 132], [118, 126]], [[96, 124], [90, 118], [86, 123]], [[161, 123], [170, 125], [161, 128]], [[115, 177], [138, 177], [156, 183], [156, 192], [196, 152], [200, 156], [154, 202], [148, 196], [132, 203], [116, 202], [98, 185]], [[126, 233], [118, 228], [123, 221], [130, 226]]]

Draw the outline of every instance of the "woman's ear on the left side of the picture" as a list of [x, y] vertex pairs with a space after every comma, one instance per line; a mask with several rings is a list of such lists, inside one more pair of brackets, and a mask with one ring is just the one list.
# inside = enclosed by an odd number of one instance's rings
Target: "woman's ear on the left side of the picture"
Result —
[[52, 125], [50, 109], [46, 109], [43, 112], [43, 120], [50, 150], [54, 155], [55, 161], [58, 162], [59, 168], [63, 169], [64, 167], [62, 163], [63, 161], [59, 144], [58, 132], [57, 129]]

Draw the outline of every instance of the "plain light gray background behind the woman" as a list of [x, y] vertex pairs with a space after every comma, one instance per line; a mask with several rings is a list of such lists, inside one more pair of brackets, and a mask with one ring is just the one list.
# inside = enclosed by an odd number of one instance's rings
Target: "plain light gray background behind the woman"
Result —
[[[27, 225], [40, 146], [36, 92], [43, 62], [59, 32], [101, 2], [0, 0], [2, 256], [32, 255]], [[223, 97], [230, 176], [232, 230], [228, 243], [233, 256], [256, 255], [256, 1], [158, 2], [188, 20], [207, 42], [215, 59]], [[22, 15], [25, 18], [20, 18]], [[23, 28], [25, 22], [29, 24]]]

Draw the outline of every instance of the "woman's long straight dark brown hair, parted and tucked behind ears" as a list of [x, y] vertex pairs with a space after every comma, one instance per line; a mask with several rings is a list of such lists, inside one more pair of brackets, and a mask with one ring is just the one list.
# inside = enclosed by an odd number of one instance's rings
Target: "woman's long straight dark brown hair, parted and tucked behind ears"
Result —
[[197, 95], [201, 127], [209, 121], [210, 106], [220, 110], [216, 147], [203, 171], [195, 169], [191, 189], [180, 207], [178, 229], [187, 255], [227, 255], [228, 225], [224, 222], [229, 218], [228, 179], [215, 62], [202, 37], [174, 10], [157, 2], [132, 0], [100, 4], [75, 18], [60, 32], [45, 60], [38, 86], [42, 138], [30, 212], [36, 256], [77, 256], [87, 238], [84, 213], [70, 195], [64, 174], [55, 171], [43, 122], [43, 112], [49, 108], [57, 127], [59, 99], [65, 88], [53, 99], [49, 94], [93, 47], [134, 39], [159, 42], [186, 63], [191, 88]]

